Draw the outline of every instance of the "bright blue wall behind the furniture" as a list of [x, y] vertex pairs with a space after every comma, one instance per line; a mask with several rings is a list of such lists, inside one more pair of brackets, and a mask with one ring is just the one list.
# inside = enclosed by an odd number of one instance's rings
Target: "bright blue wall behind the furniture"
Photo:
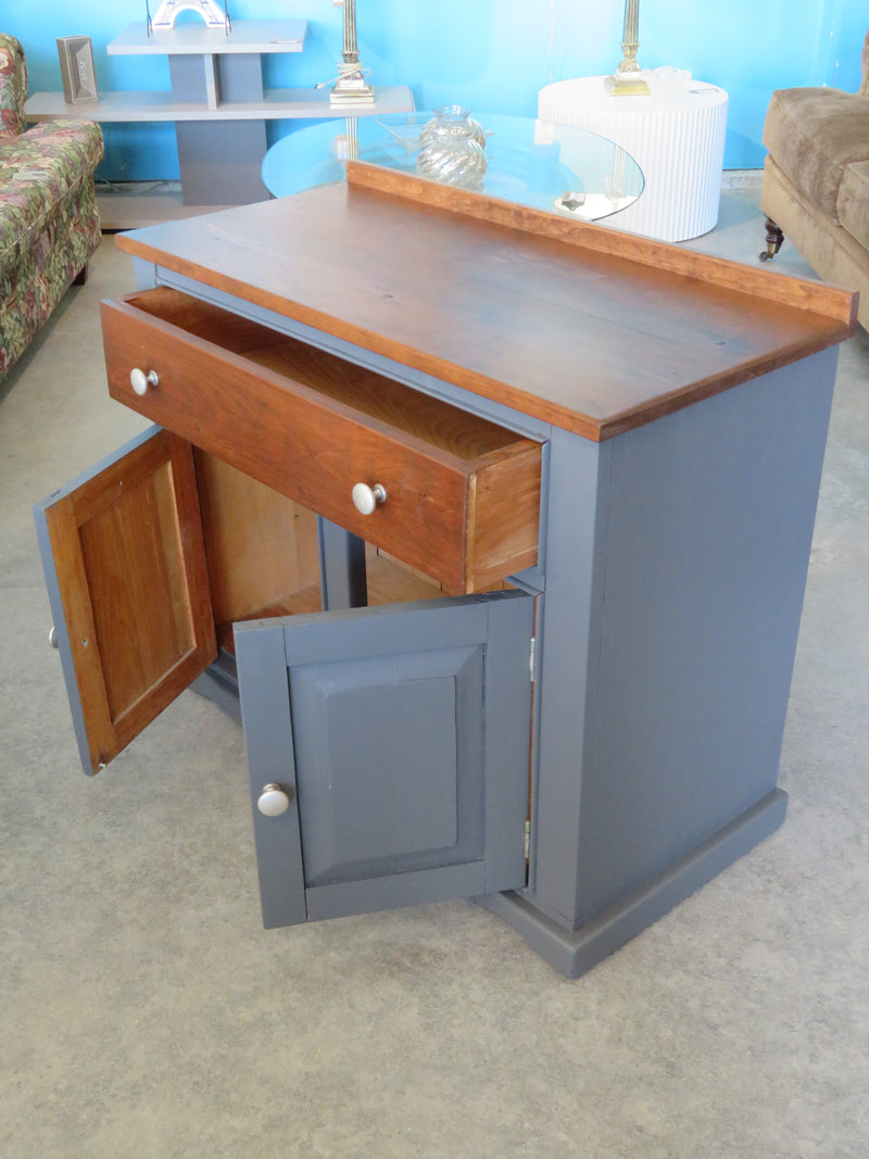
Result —
[[[220, 0], [219, 0], [220, 2]], [[159, 0], [151, 0], [152, 13]], [[235, 20], [302, 17], [301, 54], [272, 58], [266, 85], [329, 80], [341, 54], [333, 0], [228, 0]], [[550, 80], [611, 72], [620, 58], [621, 0], [357, 0], [359, 48], [374, 85], [410, 85], [419, 109], [461, 103], [476, 112], [533, 116]], [[168, 89], [162, 58], [109, 57], [105, 46], [145, 0], [0, 0], [0, 27], [24, 45], [30, 92], [60, 89], [54, 38], [90, 36], [101, 89]], [[762, 165], [764, 115], [774, 88], [860, 83], [866, 0], [642, 0], [641, 65], [688, 68], [730, 94], [725, 168]], [[270, 133], [292, 131], [272, 124]], [[294, 123], [299, 127], [299, 123]], [[177, 176], [171, 126], [107, 126], [100, 175]]]

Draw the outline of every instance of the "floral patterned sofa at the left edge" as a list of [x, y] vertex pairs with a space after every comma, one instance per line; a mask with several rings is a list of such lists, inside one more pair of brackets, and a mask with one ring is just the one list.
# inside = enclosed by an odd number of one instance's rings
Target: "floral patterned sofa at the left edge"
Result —
[[100, 242], [94, 169], [100, 126], [46, 121], [25, 131], [21, 44], [0, 32], [0, 379]]

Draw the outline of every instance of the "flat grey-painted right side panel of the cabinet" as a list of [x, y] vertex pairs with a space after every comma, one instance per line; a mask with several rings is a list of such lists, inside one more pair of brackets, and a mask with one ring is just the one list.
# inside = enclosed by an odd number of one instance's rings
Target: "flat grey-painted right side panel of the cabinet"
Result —
[[619, 439], [578, 912], [775, 789], [835, 351]]

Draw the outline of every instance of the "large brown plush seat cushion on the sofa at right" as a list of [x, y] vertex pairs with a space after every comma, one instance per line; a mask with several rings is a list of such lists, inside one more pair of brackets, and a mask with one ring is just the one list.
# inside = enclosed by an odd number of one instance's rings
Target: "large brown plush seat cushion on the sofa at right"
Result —
[[776, 89], [764, 144], [794, 185], [838, 221], [846, 168], [869, 161], [869, 100], [837, 88]]

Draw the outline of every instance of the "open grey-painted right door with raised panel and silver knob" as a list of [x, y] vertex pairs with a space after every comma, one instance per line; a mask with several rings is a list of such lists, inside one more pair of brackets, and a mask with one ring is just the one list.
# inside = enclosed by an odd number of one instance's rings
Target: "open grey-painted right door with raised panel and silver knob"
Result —
[[265, 926], [525, 885], [533, 615], [499, 591], [235, 625]]

